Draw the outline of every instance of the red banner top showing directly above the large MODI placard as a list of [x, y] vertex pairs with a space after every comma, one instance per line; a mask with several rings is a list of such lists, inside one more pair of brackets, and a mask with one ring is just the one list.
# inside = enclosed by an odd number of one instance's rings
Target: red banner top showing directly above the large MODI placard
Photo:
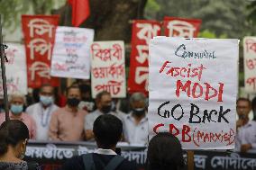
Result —
[[168, 37], [197, 37], [201, 20], [177, 17], [164, 17], [164, 35]]

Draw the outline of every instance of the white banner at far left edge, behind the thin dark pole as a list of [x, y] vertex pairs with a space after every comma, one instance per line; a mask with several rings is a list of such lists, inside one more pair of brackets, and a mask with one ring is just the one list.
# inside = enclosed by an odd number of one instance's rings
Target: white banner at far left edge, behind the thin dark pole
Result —
[[[7, 49], [5, 49], [5, 55], [8, 62], [5, 62], [5, 75], [7, 93], [28, 93], [27, 87], [27, 66], [26, 66], [26, 54], [24, 46], [17, 43], [7, 43]], [[0, 78], [0, 95], [4, 96], [3, 80]]]

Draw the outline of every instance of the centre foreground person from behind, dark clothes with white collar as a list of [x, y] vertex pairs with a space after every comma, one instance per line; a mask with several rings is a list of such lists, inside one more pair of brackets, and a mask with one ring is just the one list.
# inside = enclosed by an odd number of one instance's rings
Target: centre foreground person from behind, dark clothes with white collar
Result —
[[97, 150], [93, 154], [73, 157], [62, 166], [62, 170], [134, 170], [136, 165], [115, 152], [122, 138], [123, 123], [114, 115], [104, 114], [96, 118], [93, 125]]

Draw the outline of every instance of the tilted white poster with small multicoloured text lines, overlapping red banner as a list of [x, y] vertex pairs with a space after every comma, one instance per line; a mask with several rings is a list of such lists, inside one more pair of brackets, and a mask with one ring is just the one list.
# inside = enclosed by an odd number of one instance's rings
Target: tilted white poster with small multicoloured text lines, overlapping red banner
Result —
[[94, 30], [58, 27], [51, 58], [50, 76], [89, 79], [90, 45]]

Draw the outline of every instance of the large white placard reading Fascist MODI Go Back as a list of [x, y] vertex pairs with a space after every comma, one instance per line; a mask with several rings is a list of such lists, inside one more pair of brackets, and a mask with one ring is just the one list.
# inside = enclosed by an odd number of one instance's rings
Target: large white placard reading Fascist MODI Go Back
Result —
[[150, 137], [184, 149], [233, 149], [238, 40], [156, 37], [150, 43]]

